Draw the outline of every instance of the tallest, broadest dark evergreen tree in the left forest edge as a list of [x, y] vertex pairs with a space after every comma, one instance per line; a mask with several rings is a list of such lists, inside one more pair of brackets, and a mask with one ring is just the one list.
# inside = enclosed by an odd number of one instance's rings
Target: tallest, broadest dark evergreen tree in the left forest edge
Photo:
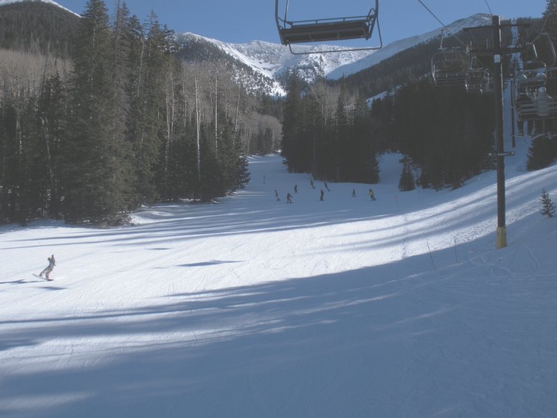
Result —
[[111, 28], [102, 0], [88, 0], [75, 41], [64, 212], [98, 222], [129, 205], [124, 132], [113, 83]]

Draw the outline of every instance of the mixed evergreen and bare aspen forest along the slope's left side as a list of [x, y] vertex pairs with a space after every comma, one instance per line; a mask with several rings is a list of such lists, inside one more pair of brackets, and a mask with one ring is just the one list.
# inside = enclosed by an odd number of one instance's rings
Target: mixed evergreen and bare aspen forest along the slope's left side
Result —
[[0, 222], [113, 222], [141, 204], [209, 201], [249, 181], [247, 153], [278, 148], [218, 63], [178, 58], [173, 33], [89, 0], [70, 59], [0, 50]]

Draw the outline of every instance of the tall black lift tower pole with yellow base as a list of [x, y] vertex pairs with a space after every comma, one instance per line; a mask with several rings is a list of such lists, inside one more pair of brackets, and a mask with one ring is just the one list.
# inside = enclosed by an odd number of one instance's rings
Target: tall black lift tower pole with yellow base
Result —
[[503, 141], [503, 63], [501, 63], [501, 18], [492, 17], [493, 26], [493, 67], [495, 82], [495, 139], [497, 146], [497, 232], [496, 247], [507, 246], [507, 226], [505, 224], [505, 144]]

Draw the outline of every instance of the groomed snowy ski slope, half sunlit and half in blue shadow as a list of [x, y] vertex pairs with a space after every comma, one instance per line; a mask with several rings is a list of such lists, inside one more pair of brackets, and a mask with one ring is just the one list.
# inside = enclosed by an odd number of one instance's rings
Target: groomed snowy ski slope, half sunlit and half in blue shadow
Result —
[[134, 226], [1, 227], [0, 416], [554, 417], [557, 165], [524, 171], [527, 146], [499, 250], [494, 172], [401, 193], [397, 155], [377, 201], [319, 201], [272, 155]]

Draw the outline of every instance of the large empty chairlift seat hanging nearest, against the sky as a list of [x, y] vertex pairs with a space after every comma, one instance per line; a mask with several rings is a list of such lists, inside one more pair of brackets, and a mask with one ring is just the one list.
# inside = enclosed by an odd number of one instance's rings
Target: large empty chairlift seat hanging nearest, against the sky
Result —
[[350, 16], [350, 17], [334, 17], [328, 19], [314, 20], [289, 20], [288, 19], [288, 3], [284, 17], [278, 15], [278, 0], [275, 0], [275, 20], [278, 29], [278, 36], [281, 38], [281, 44], [288, 45], [292, 54], [313, 54], [316, 52], [293, 52], [292, 44], [307, 42], [327, 42], [336, 40], [350, 39], [366, 39], [372, 36], [375, 23], [379, 31], [380, 45], [378, 47], [363, 48], [347, 48], [347, 49], [331, 49], [324, 52], [343, 52], [343, 51], [359, 51], [367, 49], [380, 49], [383, 45], [381, 40], [381, 31], [377, 20], [379, 10], [379, 0], [375, 0], [375, 8], [370, 8], [367, 15]]

